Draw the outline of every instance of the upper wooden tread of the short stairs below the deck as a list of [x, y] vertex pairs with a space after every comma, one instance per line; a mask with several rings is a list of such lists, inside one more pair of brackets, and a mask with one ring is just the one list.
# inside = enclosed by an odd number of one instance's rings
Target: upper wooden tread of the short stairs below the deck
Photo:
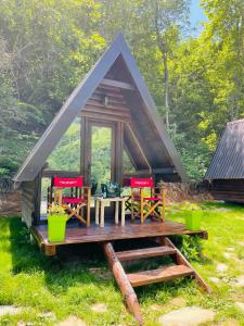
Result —
[[169, 246], [160, 246], [160, 247], [153, 247], [153, 248], [118, 251], [116, 252], [116, 255], [119, 259], [119, 261], [123, 262], [123, 261], [132, 261], [132, 260], [139, 260], [139, 259], [151, 258], [151, 256], [170, 255], [175, 253], [176, 253], [176, 249]]

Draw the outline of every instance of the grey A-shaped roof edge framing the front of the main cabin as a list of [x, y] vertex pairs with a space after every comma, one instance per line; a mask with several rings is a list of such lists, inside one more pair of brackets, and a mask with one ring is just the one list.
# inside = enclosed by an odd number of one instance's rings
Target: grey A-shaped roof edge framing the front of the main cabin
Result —
[[15, 181], [33, 180], [37, 176], [61, 137], [64, 135], [78, 113], [85, 108], [89, 98], [113, 67], [118, 58], [123, 59], [130, 74], [131, 80], [136, 86], [136, 91], [145, 108], [146, 115], [150, 121], [149, 125], [153, 128], [153, 133], [156, 131], [157, 140], [160, 141], [162, 148], [155, 149], [155, 155], [157, 155], [158, 151], [164, 152], [165, 158], [167, 158], [167, 162], [170, 162], [168, 163], [169, 166], [174, 167], [179, 178], [181, 180], [187, 179], [184, 168], [178, 156], [176, 148], [167, 134], [163, 120], [157, 112], [156, 105], [145, 86], [137, 63], [130, 53], [124, 36], [119, 34], [97, 64], [90, 70], [84, 82], [75, 88], [69, 98], [63, 104], [52, 123], [49, 125], [14, 176]]

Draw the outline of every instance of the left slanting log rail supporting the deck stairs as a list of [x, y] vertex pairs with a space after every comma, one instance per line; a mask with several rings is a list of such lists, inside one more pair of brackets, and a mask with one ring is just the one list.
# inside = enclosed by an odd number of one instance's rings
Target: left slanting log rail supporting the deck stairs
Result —
[[114, 277], [117, 285], [123, 293], [124, 299], [128, 305], [129, 311], [133, 314], [134, 318], [138, 321], [139, 325], [143, 325], [143, 318], [140, 311], [140, 305], [138, 302], [137, 294], [120, 264], [111, 242], [103, 244], [105, 255], [110, 262], [111, 268], [114, 273]]

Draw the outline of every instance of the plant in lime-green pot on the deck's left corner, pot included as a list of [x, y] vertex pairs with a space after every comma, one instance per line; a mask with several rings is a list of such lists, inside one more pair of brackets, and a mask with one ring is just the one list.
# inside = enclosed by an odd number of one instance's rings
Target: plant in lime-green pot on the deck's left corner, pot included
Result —
[[53, 204], [49, 208], [48, 238], [50, 242], [64, 241], [67, 220], [68, 217], [63, 206]]

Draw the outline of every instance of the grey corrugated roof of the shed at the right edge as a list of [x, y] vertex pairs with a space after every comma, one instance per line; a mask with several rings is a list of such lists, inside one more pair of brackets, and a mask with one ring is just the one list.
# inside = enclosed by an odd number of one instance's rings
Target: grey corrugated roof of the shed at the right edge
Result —
[[205, 179], [244, 178], [244, 118], [227, 124]]

